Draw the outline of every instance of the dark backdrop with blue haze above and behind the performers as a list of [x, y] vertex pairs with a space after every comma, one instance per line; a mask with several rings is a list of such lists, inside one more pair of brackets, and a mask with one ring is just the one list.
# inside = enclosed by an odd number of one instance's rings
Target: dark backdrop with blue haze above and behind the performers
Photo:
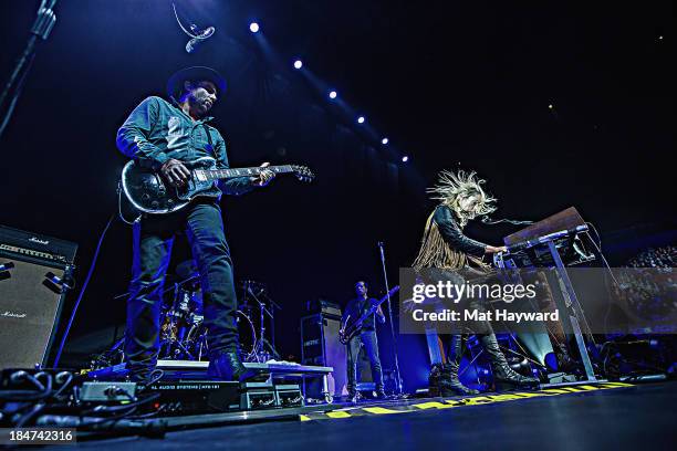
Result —
[[[38, 3], [0, 4], [2, 80]], [[577, 207], [613, 238], [603, 243], [615, 264], [629, 256], [627, 240], [674, 230], [670, 1], [176, 3], [186, 23], [217, 29], [192, 54], [170, 1], [59, 2], [0, 138], [0, 223], [77, 242], [80, 282], [116, 210], [126, 161], [117, 127], [145, 96], [163, 95], [175, 70], [196, 64], [228, 78], [215, 115], [233, 167], [298, 162], [317, 175], [223, 201], [236, 276], [264, 282], [283, 307], [285, 356], [299, 355], [306, 301], [345, 304], [360, 279], [383, 291], [377, 241], [396, 283], [434, 206], [425, 188], [442, 168], [486, 178], [497, 217], [539, 220]], [[308, 76], [291, 67], [295, 57]], [[336, 88], [340, 102], [317, 85]], [[367, 124], [357, 126], [353, 111]], [[498, 243], [513, 229], [467, 232]], [[129, 228], [115, 221], [74, 338], [124, 322], [114, 296], [126, 291], [129, 248]], [[186, 258], [177, 250], [176, 261]]]

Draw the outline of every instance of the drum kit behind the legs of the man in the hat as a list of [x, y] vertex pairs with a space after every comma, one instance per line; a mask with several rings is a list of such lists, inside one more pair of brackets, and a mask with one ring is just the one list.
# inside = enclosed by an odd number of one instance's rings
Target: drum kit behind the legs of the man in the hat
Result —
[[[199, 273], [191, 260], [176, 266], [178, 282], [165, 290], [160, 312], [159, 359], [207, 360], [209, 331], [205, 324]], [[240, 281], [236, 322], [243, 361], [265, 363], [279, 358], [274, 347], [274, 312], [281, 307], [268, 296], [264, 284]], [[121, 295], [117, 297], [124, 297]], [[270, 325], [270, 340], [267, 327]], [[122, 361], [124, 337], [96, 356], [93, 367]]]

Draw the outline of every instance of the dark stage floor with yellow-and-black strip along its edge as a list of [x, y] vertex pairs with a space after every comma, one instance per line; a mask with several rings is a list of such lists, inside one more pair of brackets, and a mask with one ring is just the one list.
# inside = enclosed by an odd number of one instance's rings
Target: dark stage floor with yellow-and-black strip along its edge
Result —
[[[82, 448], [166, 450], [662, 450], [677, 442], [677, 384], [601, 384], [472, 398], [334, 405], [223, 415], [226, 426], [81, 441]], [[261, 422], [246, 423], [252, 419]], [[175, 427], [183, 419], [175, 419]]]

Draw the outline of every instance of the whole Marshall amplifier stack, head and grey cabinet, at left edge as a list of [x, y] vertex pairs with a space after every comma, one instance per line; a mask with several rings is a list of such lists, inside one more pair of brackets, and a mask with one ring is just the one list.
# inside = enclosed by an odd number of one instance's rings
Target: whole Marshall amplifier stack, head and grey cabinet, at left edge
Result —
[[46, 365], [76, 250], [0, 226], [0, 369]]

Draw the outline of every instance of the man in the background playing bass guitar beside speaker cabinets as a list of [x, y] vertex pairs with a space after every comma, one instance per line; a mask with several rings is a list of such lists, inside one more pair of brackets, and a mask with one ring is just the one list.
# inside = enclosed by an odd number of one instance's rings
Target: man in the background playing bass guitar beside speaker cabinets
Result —
[[[374, 304], [378, 302], [373, 297], [367, 296], [367, 285], [364, 282], [355, 284], [357, 297], [350, 301], [341, 319], [341, 328], [357, 321], [362, 315], [367, 313]], [[357, 356], [360, 355], [360, 346], [363, 345], [372, 367], [372, 376], [376, 384], [376, 397], [384, 399], [386, 397], [383, 390], [383, 371], [381, 369], [381, 358], [378, 357], [378, 342], [376, 339], [376, 318], [378, 323], [385, 323], [385, 315], [381, 310], [381, 305], [376, 308], [373, 315], [369, 315], [363, 323], [360, 333], [353, 336], [347, 344], [347, 391], [348, 397], [357, 400]]]

